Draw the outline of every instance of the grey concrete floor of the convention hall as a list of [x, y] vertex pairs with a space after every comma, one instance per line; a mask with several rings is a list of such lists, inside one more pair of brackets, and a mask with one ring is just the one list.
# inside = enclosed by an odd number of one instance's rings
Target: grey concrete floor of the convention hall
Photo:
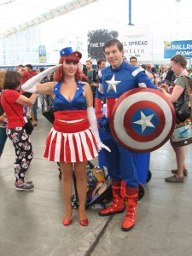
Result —
[[88, 210], [89, 226], [80, 226], [73, 210], [73, 224], [66, 227], [57, 166], [43, 157], [51, 125], [40, 113], [38, 119], [31, 136], [35, 158], [27, 172], [34, 191], [15, 190], [15, 151], [9, 139], [0, 160], [0, 256], [192, 255], [192, 145], [186, 147], [189, 177], [184, 183], [164, 180], [176, 167], [169, 143], [151, 154], [152, 178], [130, 232], [120, 229], [124, 213], [99, 217], [96, 209]]

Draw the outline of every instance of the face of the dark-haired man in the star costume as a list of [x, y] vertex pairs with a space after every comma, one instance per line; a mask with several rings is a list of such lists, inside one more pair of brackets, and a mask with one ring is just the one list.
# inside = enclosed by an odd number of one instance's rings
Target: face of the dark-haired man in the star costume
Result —
[[106, 59], [113, 69], [118, 68], [123, 62], [124, 50], [119, 51], [117, 45], [106, 47], [105, 49]]

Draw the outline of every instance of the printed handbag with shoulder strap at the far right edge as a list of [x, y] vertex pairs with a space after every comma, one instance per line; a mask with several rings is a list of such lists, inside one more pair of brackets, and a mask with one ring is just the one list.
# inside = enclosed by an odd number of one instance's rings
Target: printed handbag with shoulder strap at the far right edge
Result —
[[[185, 84], [187, 86], [190, 105], [192, 106], [192, 99], [190, 96], [188, 80], [186, 77], [184, 77], [184, 80], [185, 80]], [[190, 143], [192, 143], [191, 120], [192, 120], [192, 112], [190, 109], [189, 118], [185, 119], [183, 122], [180, 122], [179, 124], [177, 124], [175, 127], [175, 130], [172, 133], [171, 143], [172, 143], [173, 147], [182, 147], [182, 146], [186, 146], [186, 145], [189, 145]]]

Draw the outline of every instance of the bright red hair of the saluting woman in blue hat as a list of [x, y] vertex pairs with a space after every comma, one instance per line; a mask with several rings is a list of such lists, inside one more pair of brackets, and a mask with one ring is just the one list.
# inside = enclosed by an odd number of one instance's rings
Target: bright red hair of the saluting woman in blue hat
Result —
[[[66, 61], [68, 63], [74, 63], [74, 64], [78, 64], [79, 60], [81, 59], [82, 54], [79, 51], [74, 51], [72, 55], [64, 55], [60, 58], [59, 60], [59, 64], [63, 64], [63, 61]], [[56, 82], [60, 81], [63, 82], [64, 81], [64, 73], [63, 73], [63, 67], [57, 67], [56, 71], [55, 71], [55, 75], [54, 75], [54, 80]], [[77, 70], [77, 72], [75, 73], [75, 79], [77, 80], [81, 80], [82, 75], [79, 71], [79, 68]]]

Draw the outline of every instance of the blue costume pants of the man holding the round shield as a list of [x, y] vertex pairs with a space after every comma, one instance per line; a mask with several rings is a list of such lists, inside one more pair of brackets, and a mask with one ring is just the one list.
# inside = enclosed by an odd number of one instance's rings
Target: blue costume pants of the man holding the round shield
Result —
[[103, 143], [111, 149], [111, 152], [105, 150], [109, 176], [124, 180], [129, 188], [137, 188], [137, 153], [121, 147], [110, 132], [104, 135]]

